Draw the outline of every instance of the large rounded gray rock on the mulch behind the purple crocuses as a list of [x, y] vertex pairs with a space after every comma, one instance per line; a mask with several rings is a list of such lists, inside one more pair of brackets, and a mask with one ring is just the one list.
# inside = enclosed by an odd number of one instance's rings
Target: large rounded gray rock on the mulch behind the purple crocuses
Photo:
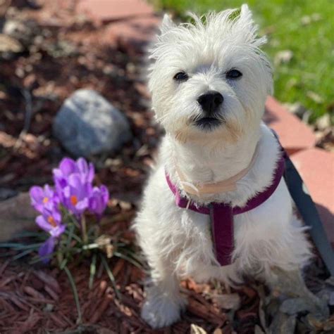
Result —
[[96, 91], [79, 89], [56, 115], [54, 136], [76, 157], [118, 150], [132, 137], [125, 116]]

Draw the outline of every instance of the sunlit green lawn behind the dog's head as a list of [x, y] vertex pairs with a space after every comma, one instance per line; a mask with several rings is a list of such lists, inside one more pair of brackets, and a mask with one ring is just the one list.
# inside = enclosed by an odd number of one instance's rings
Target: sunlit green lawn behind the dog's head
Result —
[[[154, 0], [153, 0], [154, 1]], [[238, 0], [155, 0], [156, 8], [184, 17], [186, 11], [206, 13], [237, 8]], [[283, 103], [299, 102], [311, 111], [311, 122], [334, 108], [334, 1], [249, 0], [268, 36], [264, 50], [275, 63], [275, 93]], [[287, 63], [278, 62], [280, 51], [292, 51]], [[276, 60], [275, 60], [276, 59]]]

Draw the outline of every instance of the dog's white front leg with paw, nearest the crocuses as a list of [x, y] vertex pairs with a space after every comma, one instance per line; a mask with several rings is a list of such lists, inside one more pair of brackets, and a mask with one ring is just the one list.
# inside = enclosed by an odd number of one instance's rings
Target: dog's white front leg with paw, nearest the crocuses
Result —
[[145, 289], [147, 297], [142, 307], [142, 319], [152, 328], [169, 326], [177, 321], [186, 304], [171, 263], [171, 259], [156, 255], [149, 259], [151, 280]]

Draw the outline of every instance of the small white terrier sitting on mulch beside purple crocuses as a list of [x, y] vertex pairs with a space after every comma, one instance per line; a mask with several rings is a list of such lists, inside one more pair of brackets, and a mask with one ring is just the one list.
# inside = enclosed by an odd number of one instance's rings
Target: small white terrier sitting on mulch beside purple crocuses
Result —
[[[210, 203], [245, 207], [272, 187], [281, 150], [261, 123], [273, 80], [256, 30], [246, 5], [179, 26], [165, 15], [152, 46], [149, 89], [166, 136], [134, 227], [151, 268], [142, 317], [153, 328], [180, 317], [180, 278], [272, 281], [274, 267], [296, 271], [311, 256], [284, 179], [261, 205], [234, 215], [231, 264], [221, 266], [215, 254], [213, 240], [225, 228], [211, 233], [216, 218], [195, 211]], [[175, 203], [171, 187], [187, 207]]]

